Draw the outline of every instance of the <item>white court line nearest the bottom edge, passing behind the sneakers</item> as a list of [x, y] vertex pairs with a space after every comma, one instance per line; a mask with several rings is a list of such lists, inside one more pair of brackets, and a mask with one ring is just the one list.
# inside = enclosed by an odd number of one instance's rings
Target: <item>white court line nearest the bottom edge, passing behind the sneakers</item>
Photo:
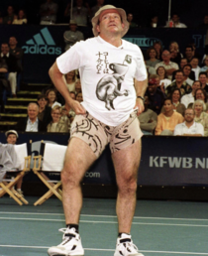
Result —
[[[4, 245], [0, 244], [0, 247], [6, 248], [31, 248], [31, 249], [48, 249], [50, 246], [24, 246], [24, 245]], [[114, 249], [98, 249], [98, 248], [84, 248], [86, 251], [114, 251]], [[174, 252], [174, 251], [152, 251], [152, 250], [140, 250], [140, 252], [149, 253], [168, 253], [168, 254], [187, 254], [187, 255], [208, 255], [206, 252]]]

